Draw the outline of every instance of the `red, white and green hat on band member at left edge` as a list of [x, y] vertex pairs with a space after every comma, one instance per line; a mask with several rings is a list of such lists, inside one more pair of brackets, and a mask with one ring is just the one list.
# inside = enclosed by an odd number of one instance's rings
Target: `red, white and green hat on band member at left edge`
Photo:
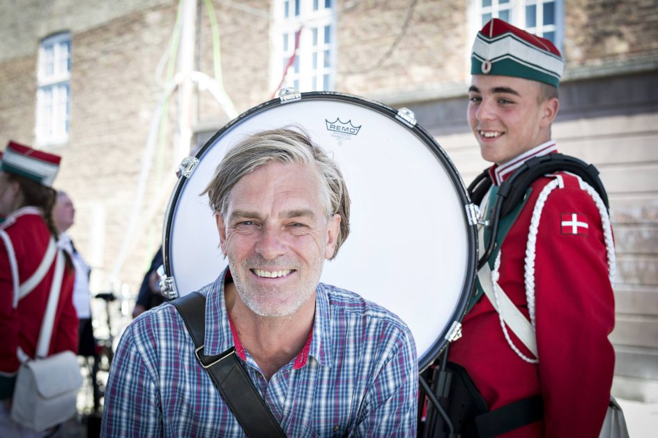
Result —
[[60, 156], [10, 141], [0, 161], [0, 170], [50, 187], [59, 171], [60, 161]]

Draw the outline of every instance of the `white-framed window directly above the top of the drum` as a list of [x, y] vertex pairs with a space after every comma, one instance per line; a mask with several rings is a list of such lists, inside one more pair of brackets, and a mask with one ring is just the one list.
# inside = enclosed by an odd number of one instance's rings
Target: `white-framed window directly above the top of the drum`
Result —
[[274, 0], [273, 86], [324, 91], [334, 86], [335, 0]]

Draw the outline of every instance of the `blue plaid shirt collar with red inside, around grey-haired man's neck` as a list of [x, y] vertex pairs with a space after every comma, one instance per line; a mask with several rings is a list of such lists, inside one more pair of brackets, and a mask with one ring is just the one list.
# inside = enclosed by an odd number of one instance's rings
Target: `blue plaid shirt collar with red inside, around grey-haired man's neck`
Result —
[[[246, 359], [245, 349], [234, 331], [226, 310], [224, 298], [224, 283], [227, 275], [231, 275], [227, 266], [210, 286], [206, 296], [206, 339], [204, 340], [204, 354], [214, 356], [230, 347], [236, 347], [236, 353], [243, 360]], [[309, 356], [312, 356], [321, 365], [330, 363], [330, 306], [326, 289], [319, 283], [316, 289], [315, 317], [312, 332], [309, 334], [302, 351], [294, 360], [293, 368], [303, 368]]]

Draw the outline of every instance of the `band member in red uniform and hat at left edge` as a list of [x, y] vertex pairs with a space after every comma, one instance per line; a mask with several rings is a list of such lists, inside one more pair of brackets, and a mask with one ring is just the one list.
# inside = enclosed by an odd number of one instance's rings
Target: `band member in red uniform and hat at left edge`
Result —
[[[9, 142], [0, 163], [0, 436], [38, 437], [10, 417], [15, 376], [33, 358], [55, 275], [57, 232], [52, 182], [60, 157]], [[53, 249], [54, 248], [54, 249]], [[40, 269], [40, 266], [44, 269]], [[46, 267], [47, 266], [47, 267]], [[49, 354], [77, 352], [78, 319], [72, 302], [75, 271], [67, 259]], [[47, 432], [46, 432], [47, 433]]]

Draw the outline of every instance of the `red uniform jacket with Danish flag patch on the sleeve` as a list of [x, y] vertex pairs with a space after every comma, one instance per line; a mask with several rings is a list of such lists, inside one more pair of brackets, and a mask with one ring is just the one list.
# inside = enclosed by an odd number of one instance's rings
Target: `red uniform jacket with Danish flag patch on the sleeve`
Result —
[[578, 179], [560, 175], [564, 188], [551, 192], [540, 216], [534, 272], [526, 272], [525, 262], [530, 220], [537, 197], [554, 178], [533, 183], [500, 247], [498, 283], [526, 317], [526, 275], [534, 275], [539, 363], [512, 351], [487, 296], [468, 312], [463, 336], [450, 348], [450, 360], [466, 368], [491, 410], [542, 395], [544, 421], [505, 437], [596, 438], [609, 403], [615, 355], [608, 335], [615, 314], [602, 219]]

